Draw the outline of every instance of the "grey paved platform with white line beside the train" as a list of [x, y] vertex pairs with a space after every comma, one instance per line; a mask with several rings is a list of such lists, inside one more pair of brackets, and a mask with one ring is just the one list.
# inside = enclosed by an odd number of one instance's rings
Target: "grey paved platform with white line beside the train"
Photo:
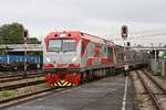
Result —
[[[112, 76], [3, 110], [122, 110], [125, 81], [122, 75]], [[127, 84], [124, 110], [136, 110], [131, 78]]]

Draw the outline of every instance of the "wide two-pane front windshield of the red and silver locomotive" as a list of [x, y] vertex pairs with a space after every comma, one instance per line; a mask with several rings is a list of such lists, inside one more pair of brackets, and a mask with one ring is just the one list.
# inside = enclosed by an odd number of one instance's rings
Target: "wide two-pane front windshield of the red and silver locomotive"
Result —
[[75, 40], [50, 40], [49, 51], [50, 52], [75, 52], [76, 51]]

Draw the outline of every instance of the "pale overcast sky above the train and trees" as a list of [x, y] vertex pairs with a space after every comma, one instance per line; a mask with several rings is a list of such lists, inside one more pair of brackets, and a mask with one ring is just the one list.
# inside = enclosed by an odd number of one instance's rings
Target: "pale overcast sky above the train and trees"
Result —
[[[52, 30], [79, 30], [115, 40], [121, 38], [123, 24], [128, 25], [129, 32], [144, 32], [141, 35], [158, 30], [166, 33], [165, 10], [166, 0], [0, 0], [0, 25], [22, 23], [31, 36], [39, 38]], [[131, 42], [164, 45], [166, 35]]]

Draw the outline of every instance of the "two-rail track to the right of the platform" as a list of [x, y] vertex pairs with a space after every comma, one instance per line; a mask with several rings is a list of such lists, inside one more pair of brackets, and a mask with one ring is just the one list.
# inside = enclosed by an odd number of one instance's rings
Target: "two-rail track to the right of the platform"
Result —
[[[143, 72], [142, 75], [137, 70], [136, 70], [136, 74], [137, 74], [142, 85], [143, 85], [144, 89], [148, 94], [148, 96], [149, 96], [153, 105], [155, 106], [156, 110], [164, 110], [162, 108], [162, 103], [159, 103], [157, 96], [163, 95], [166, 97], [166, 90], [157, 81], [155, 81], [155, 79], [153, 79], [151, 77], [151, 75], [148, 75], [145, 70], [142, 70], [142, 72]], [[162, 94], [156, 94], [154, 86], [155, 86], [155, 89], [159, 90], [159, 92], [162, 92]]]

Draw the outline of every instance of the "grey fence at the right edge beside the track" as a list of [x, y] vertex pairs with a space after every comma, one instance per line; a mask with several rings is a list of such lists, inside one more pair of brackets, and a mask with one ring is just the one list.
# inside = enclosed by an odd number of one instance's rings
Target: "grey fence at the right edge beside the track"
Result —
[[154, 72], [155, 75], [159, 74], [160, 76], [166, 77], [166, 58], [151, 59], [148, 67]]

